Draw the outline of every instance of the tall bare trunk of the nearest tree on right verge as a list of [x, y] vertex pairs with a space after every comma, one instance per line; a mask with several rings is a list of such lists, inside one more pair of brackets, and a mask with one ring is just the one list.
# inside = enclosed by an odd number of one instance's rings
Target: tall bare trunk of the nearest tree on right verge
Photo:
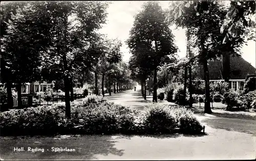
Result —
[[204, 81], [205, 81], [205, 103], [204, 103], [204, 113], [210, 114], [210, 86], [209, 86], [209, 71], [207, 65], [207, 59], [205, 58], [203, 61], [204, 66]]

